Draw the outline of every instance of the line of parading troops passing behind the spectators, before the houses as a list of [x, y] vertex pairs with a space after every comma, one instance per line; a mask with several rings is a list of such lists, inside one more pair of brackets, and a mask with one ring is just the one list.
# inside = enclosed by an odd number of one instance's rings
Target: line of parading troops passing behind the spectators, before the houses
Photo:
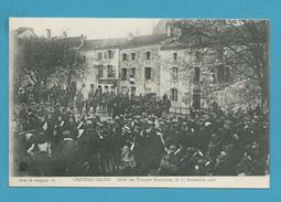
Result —
[[[98, 110], [101, 115], [110, 115], [114, 118], [117, 115], [130, 113], [140, 114], [141, 111], [152, 113], [161, 116], [163, 111], [167, 111], [171, 107], [171, 102], [164, 95], [162, 100], [156, 100], [154, 94], [136, 96], [134, 94], [116, 94], [115, 88], [105, 92], [101, 88], [94, 91], [94, 87], [87, 93], [85, 86], [79, 91], [71, 87], [63, 88], [61, 85], [54, 84], [48, 89], [39, 91], [36, 85], [29, 84], [25, 87], [20, 87], [15, 99], [21, 103], [44, 103], [56, 105], [60, 104], [64, 108], [76, 108], [82, 115], [93, 110], [94, 114]], [[129, 107], [128, 107], [129, 106]]]

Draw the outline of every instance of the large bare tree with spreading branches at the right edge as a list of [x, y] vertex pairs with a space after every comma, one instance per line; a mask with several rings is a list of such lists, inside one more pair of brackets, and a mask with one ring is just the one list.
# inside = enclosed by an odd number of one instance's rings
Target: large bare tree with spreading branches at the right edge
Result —
[[213, 49], [216, 61], [208, 63], [231, 68], [231, 79], [224, 86], [217, 85], [218, 89], [245, 81], [249, 96], [260, 94], [261, 107], [269, 107], [268, 21], [181, 20], [175, 26], [181, 29], [177, 40], [186, 47], [202, 52]]

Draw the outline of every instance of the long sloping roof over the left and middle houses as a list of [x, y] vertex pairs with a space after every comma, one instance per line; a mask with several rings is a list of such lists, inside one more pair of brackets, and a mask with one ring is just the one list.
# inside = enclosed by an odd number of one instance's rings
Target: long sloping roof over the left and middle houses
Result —
[[130, 49], [136, 46], [161, 44], [162, 41], [166, 39], [165, 34], [154, 34], [154, 35], [139, 35], [133, 36], [131, 40], [127, 38], [117, 39], [101, 39], [101, 40], [87, 40], [84, 44], [84, 50], [95, 50], [95, 49]]

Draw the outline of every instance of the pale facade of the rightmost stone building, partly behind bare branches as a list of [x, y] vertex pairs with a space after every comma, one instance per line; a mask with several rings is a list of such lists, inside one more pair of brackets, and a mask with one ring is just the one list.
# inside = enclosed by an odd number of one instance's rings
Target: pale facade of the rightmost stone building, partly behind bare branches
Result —
[[[170, 95], [172, 106], [201, 108], [216, 100], [225, 105], [224, 86], [229, 83], [230, 68], [220, 63], [219, 49], [199, 47], [191, 40], [161, 47], [161, 93]], [[228, 99], [229, 100], [229, 99]]]

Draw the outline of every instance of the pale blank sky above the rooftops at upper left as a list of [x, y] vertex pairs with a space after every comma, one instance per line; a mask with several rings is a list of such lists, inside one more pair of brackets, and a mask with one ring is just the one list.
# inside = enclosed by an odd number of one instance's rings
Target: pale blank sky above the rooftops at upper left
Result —
[[152, 28], [159, 19], [74, 19], [74, 18], [11, 18], [10, 30], [22, 26], [33, 28], [39, 35], [46, 35], [46, 29], [51, 29], [52, 36], [61, 36], [63, 31], [67, 36], [80, 36], [87, 39], [126, 38], [129, 33], [147, 35], [152, 33]]

